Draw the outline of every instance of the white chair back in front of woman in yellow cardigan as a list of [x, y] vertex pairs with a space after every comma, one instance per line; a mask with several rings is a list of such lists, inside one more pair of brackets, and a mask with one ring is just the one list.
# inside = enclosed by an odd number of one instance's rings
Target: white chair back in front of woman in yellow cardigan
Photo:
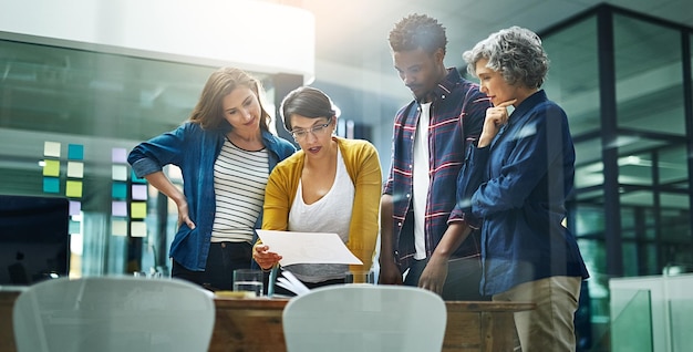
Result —
[[359, 283], [294, 297], [282, 315], [289, 352], [441, 351], [446, 321], [433, 292]]

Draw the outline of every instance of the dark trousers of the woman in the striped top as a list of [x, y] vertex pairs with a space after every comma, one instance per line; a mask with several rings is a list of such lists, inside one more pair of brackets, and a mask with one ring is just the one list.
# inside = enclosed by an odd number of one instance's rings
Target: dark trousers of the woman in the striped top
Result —
[[252, 246], [248, 242], [213, 242], [204, 271], [193, 271], [173, 261], [170, 276], [197, 283], [208, 290], [232, 290], [234, 270], [249, 269]]

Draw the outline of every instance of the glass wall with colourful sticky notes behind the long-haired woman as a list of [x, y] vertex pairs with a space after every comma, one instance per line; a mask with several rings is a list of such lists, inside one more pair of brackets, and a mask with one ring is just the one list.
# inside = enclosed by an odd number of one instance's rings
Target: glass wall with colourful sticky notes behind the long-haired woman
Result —
[[70, 199], [71, 276], [167, 271], [177, 210], [125, 158], [217, 68], [106, 52], [0, 40], [0, 194]]

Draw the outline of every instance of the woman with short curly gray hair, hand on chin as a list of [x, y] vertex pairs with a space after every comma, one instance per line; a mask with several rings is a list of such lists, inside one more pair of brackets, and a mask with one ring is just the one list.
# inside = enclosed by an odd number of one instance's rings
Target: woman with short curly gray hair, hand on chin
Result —
[[539, 37], [519, 27], [463, 58], [494, 105], [458, 178], [464, 218], [482, 229], [480, 291], [536, 304], [515, 313], [523, 351], [575, 351], [573, 314], [589, 275], [563, 226], [575, 148], [565, 111], [540, 89], [549, 60]]

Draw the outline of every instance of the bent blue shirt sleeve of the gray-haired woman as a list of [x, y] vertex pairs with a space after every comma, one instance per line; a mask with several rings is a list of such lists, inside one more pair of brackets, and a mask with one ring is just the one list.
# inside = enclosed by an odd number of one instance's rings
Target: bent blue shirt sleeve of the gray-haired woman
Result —
[[492, 149], [488, 180], [472, 197], [474, 215], [486, 218], [520, 208], [527, 199], [547, 207], [562, 204], [572, 186], [575, 154], [560, 107], [538, 105]]

